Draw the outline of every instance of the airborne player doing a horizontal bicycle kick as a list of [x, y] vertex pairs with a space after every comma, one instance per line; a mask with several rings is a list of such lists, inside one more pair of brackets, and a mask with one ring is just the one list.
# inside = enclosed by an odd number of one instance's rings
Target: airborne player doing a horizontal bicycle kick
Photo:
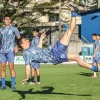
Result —
[[[73, 7], [71, 9], [71, 22], [68, 30], [65, 32], [64, 36], [56, 42], [52, 49], [42, 48], [43, 39], [46, 37], [46, 34], [43, 33], [40, 37], [38, 47], [30, 46], [30, 42], [26, 38], [21, 38], [18, 41], [19, 47], [23, 49], [23, 56], [26, 66], [30, 66], [31, 62], [36, 63], [53, 63], [59, 64], [67, 61], [76, 61], [80, 66], [84, 68], [91, 69], [92, 71], [99, 71], [97, 66], [92, 66], [82, 60], [76, 54], [66, 53], [66, 49], [69, 45], [71, 35], [76, 26], [76, 16], [77, 13], [74, 11]], [[27, 81], [26, 78], [24, 80]]]

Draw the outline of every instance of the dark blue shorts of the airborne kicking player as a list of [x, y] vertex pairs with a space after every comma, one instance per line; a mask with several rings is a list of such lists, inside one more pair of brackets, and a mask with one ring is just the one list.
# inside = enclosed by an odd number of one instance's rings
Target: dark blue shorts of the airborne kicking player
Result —
[[66, 45], [62, 44], [60, 41], [57, 41], [54, 47], [51, 49], [53, 54], [53, 59], [55, 60], [55, 64], [67, 62], [67, 47]]

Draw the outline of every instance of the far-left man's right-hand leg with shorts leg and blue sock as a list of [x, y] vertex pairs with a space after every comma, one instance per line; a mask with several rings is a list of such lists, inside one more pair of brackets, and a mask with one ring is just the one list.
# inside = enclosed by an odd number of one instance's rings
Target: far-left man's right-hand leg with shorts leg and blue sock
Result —
[[11, 90], [15, 90], [15, 83], [16, 83], [16, 72], [14, 69], [14, 53], [9, 52], [7, 53], [7, 61], [8, 61], [8, 66], [10, 69], [10, 75], [11, 75]]

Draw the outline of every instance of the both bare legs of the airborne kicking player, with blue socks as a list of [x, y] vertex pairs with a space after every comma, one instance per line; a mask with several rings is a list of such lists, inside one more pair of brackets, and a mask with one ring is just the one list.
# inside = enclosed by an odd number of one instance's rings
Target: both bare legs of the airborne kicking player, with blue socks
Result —
[[[74, 29], [75, 29], [75, 26], [76, 26], [77, 13], [74, 12], [73, 7], [70, 7], [70, 9], [71, 9], [71, 15], [72, 15], [70, 26], [69, 26], [68, 30], [65, 32], [64, 36], [60, 40], [60, 42], [64, 45], [69, 45], [71, 35], [74, 32]], [[95, 72], [98, 71], [97, 66], [92, 66], [92, 65], [86, 63], [83, 59], [81, 59], [79, 56], [77, 56], [75, 54], [67, 54], [67, 56], [68, 56], [68, 60], [76, 61], [80, 66], [82, 66], [84, 68], [91, 69], [92, 71], [95, 71]]]

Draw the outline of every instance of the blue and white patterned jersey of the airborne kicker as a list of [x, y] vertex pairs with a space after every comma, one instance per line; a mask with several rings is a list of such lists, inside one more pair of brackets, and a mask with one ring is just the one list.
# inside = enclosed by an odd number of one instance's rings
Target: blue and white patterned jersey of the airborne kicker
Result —
[[31, 46], [23, 51], [25, 64], [35, 63], [56, 63], [53, 59], [53, 54], [49, 48], [38, 48]]

